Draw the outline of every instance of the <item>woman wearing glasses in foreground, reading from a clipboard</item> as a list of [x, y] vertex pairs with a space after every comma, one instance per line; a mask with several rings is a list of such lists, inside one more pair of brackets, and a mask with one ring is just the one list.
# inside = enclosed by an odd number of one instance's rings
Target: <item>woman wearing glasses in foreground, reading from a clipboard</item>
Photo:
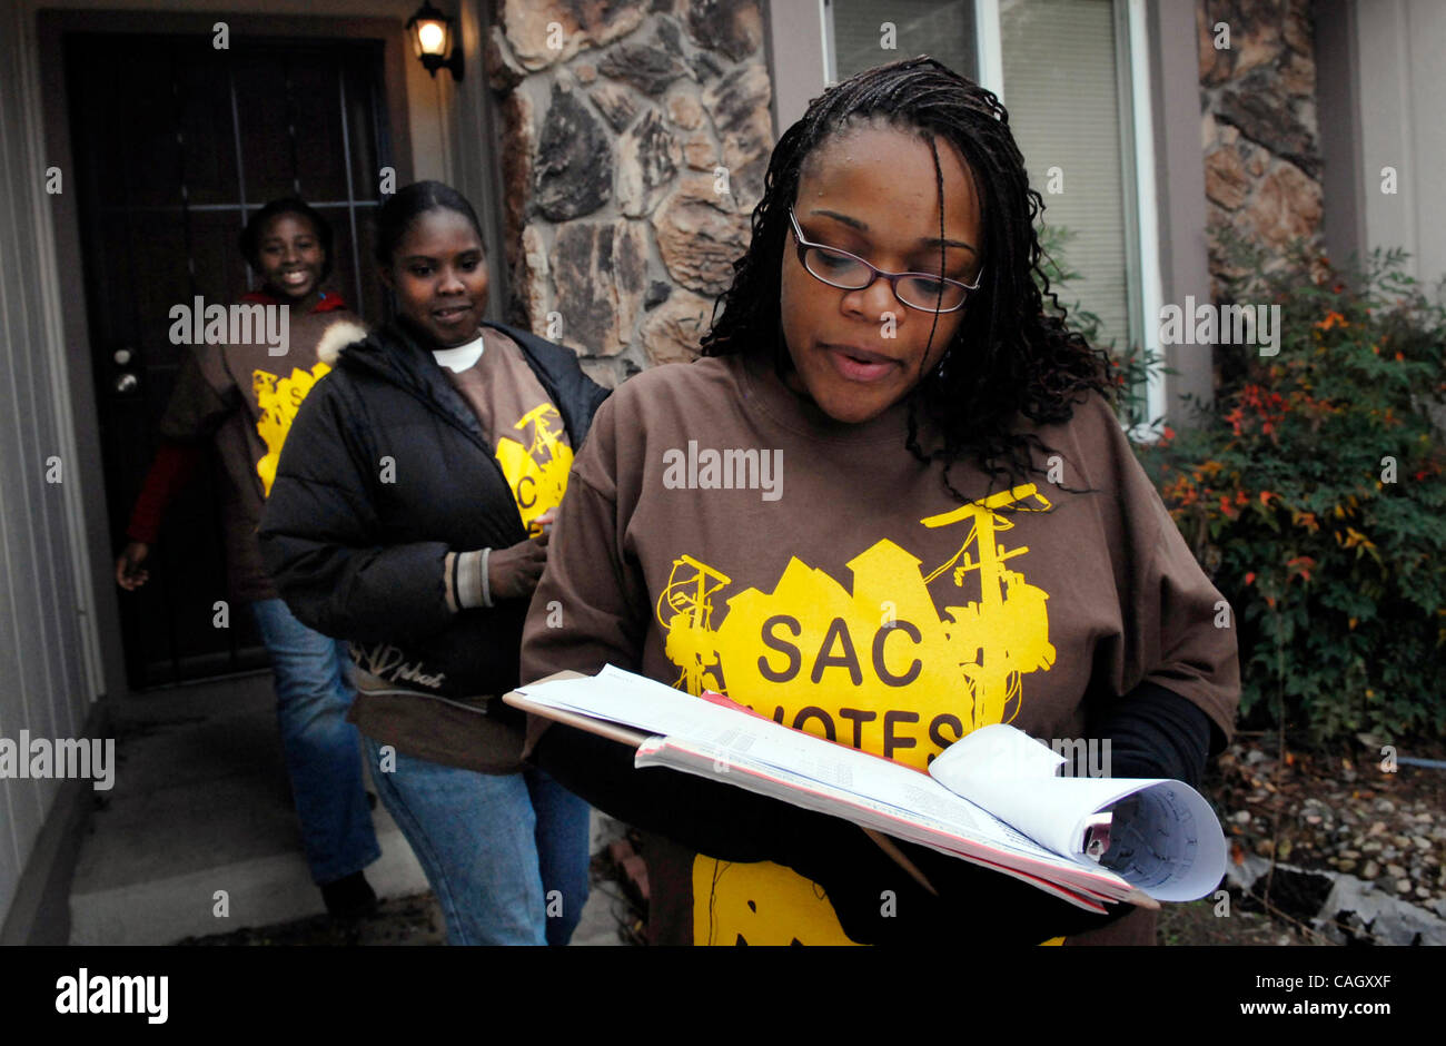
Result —
[[[918, 770], [1008, 722], [1109, 738], [1115, 775], [1197, 780], [1231, 729], [1235, 637], [1103, 354], [1044, 308], [1040, 207], [996, 98], [937, 62], [817, 98], [774, 150], [704, 359], [599, 411], [522, 679], [613, 663]], [[842, 820], [531, 736], [656, 833], [658, 942], [1152, 939], [1144, 913], [904, 846], [930, 893]]]

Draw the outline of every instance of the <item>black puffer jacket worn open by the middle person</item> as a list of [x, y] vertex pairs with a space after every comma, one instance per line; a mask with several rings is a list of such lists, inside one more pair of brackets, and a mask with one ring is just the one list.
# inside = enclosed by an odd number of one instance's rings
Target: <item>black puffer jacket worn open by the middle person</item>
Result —
[[[571, 350], [484, 326], [522, 347], [581, 447], [607, 389]], [[388, 324], [347, 346], [307, 396], [259, 537], [292, 613], [354, 647], [392, 645], [408, 686], [442, 697], [516, 686], [528, 600], [454, 613], [442, 560], [506, 548], [526, 530], [476, 414], [408, 328]]]

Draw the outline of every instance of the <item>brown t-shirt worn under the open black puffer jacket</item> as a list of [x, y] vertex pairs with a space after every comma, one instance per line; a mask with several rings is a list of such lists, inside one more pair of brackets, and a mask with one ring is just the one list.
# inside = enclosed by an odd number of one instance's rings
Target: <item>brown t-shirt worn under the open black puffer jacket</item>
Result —
[[[567, 489], [573, 448], [562, 415], [548, 399], [522, 349], [502, 331], [489, 328], [482, 354], [461, 370], [454, 372], [442, 363], [458, 365], [448, 350], [434, 356], [482, 424], [508, 477], [518, 514], [531, 528], [536, 516], [562, 501]], [[395, 745], [408, 755], [484, 774], [510, 774], [521, 768], [522, 732], [480, 715], [477, 707], [496, 699], [495, 694], [477, 694], [469, 707], [469, 702], [408, 689], [405, 677], [396, 671], [403, 666], [390, 666], [385, 648], [362, 650], [353, 644], [351, 657], [357, 664], [357, 700], [350, 719], [369, 738]]]

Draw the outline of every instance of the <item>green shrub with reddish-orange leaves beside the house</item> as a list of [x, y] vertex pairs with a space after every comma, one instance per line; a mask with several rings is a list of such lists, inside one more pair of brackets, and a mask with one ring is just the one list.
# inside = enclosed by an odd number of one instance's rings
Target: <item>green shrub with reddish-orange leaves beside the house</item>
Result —
[[1242, 279], [1281, 308], [1278, 354], [1219, 346], [1215, 402], [1138, 447], [1235, 609], [1242, 715], [1316, 741], [1446, 732], [1446, 308], [1403, 258]]

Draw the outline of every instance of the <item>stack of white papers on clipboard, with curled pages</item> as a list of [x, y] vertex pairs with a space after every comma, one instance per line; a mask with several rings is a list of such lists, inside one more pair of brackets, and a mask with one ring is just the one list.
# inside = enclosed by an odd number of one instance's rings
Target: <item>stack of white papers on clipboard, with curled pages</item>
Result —
[[[1063, 760], [1011, 726], [975, 731], [925, 774], [613, 666], [521, 687], [505, 700], [574, 725], [591, 720], [615, 738], [617, 725], [651, 735], [638, 747], [638, 767], [671, 767], [844, 817], [1092, 911], [1103, 911], [1103, 901], [1152, 906], [1144, 896], [1193, 900], [1225, 871], [1219, 823], [1192, 788], [1058, 778]], [[1115, 810], [1109, 848], [1092, 859], [1086, 829], [1102, 828], [1099, 815], [1126, 797], [1132, 807]]]

